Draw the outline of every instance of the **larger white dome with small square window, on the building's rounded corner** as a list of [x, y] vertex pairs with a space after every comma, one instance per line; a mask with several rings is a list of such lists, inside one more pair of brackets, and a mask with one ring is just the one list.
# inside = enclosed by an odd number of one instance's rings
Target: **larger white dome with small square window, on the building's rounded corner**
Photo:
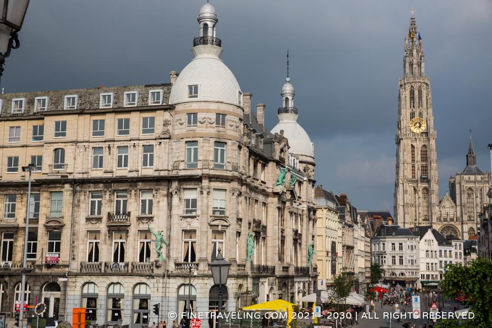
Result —
[[[202, 45], [193, 47], [196, 57], [184, 67], [169, 97], [170, 104], [194, 101], [221, 101], [239, 106], [241, 88], [231, 70], [218, 58], [221, 49]], [[188, 98], [188, 86], [198, 85], [198, 97]]]

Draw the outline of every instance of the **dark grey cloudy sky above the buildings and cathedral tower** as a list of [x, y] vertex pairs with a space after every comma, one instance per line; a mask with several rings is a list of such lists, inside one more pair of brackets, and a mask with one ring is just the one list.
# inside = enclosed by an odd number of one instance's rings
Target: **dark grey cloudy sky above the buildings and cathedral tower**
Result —
[[[31, 1], [5, 92], [169, 82], [192, 58], [204, 0]], [[316, 179], [359, 209], [393, 211], [398, 80], [415, 7], [431, 79], [441, 197], [465, 166], [468, 132], [482, 170], [492, 143], [490, 0], [212, 0], [222, 59], [277, 122], [290, 51], [300, 123]]]

